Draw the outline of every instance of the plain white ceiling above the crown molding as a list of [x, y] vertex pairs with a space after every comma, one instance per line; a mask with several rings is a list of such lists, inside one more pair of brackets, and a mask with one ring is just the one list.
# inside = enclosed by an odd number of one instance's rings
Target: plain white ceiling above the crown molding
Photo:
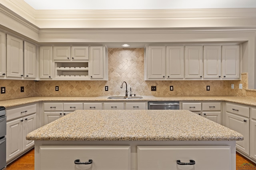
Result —
[[256, 0], [24, 0], [35, 10], [256, 8]]

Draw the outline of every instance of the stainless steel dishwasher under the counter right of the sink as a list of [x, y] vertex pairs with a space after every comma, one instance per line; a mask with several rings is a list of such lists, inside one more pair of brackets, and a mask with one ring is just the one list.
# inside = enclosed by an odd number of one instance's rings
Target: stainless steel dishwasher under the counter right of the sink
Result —
[[148, 102], [148, 109], [178, 110], [180, 109], [180, 102]]

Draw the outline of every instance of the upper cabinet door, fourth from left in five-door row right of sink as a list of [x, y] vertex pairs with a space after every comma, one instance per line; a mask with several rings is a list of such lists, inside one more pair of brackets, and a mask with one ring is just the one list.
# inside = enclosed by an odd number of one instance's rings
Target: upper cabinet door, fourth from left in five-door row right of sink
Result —
[[204, 78], [221, 78], [221, 46], [204, 46]]

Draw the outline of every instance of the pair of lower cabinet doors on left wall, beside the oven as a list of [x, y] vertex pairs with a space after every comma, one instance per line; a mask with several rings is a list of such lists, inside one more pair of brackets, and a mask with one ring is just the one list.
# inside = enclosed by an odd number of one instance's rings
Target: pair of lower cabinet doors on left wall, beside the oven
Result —
[[35, 129], [36, 114], [26, 115], [6, 123], [6, 161], [34, 145], [34, 141], [26, 140], [26, 135]]

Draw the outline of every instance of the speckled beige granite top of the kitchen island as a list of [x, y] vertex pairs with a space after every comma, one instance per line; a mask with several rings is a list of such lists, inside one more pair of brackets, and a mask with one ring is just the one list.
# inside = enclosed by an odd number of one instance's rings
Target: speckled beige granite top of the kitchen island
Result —
[[188, 110], [76, 110], [26, 136], [36, 141], [240, 141]]

